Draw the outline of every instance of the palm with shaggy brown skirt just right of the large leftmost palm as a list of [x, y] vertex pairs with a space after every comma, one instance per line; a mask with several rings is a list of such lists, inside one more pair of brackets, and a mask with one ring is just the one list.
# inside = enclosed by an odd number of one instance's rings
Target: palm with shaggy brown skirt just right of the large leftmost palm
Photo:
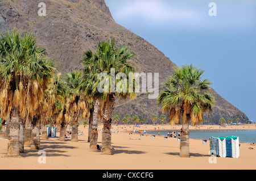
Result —
[[[43, 60], [43, 59], [42, 59]], [[34, 70], [35, 80], [42, 79], [42, 83], [37, 83], [38, 81], [34, 82], [34, 85], [29, 86], [28, 89], [28, 101], [27, 101], [27, 109], [24, 111], [22, 119], [28, 120], [27, 117], [31, 117], [32, 120], [32, 130], [31, 130], [31, 141], [30, 141], [30, 149], [31, 150], [40, 150], [40, 129], [41, 125], [46, 124], [46, 119], [51, 115], [53, 111], [51, 102], [54, 103], [53, 100], [49, 100], [49, 96], [47, 96], [49, 87], [52, 85], [52, 78], [54, 74], [53, 64], [52, 62], [48, 61], [47, 59], [44, 61], [39, 61], [38, 64], [42, 66], [43, 72], [36, 72]], [[35, 88], [35, 87], [37, 88]], [[32, 96], [33, 98], [29, 98]], [[54, 99], [54, 98], [53, 98]], [[52, 104], [53, 104], [52, 103]], [[37, 106], [35, 107], [35, 104]], [[54, 105], [55, 106], [55, 105]], [[22, 114], [21, 114], [22, 115]], [[30, 124], [30, 123], [28, 123]], [[20, 124], [23, 125], [24, 124]], [[24, 128], [22, 128], [24, 129]]]

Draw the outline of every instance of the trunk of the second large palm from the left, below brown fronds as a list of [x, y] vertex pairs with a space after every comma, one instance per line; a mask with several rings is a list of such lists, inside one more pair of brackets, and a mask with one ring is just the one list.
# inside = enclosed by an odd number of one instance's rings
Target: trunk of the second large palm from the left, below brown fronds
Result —
[[40, 119], [39, 119], [39, 116], [35, 116], [35, 119], [33, 120], [30, 149], [31, 150], [40, 150]]

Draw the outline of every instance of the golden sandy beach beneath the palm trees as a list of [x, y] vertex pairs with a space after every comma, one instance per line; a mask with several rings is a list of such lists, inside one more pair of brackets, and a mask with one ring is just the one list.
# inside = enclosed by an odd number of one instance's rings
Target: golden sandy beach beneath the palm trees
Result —
[[[170, 125], [156, 125], [156, 129], [170, 129]], [[154, 130], [153, 125], [142, 125], [140, 130]], [[255, 125], [227, 126], [204, 125], [190, 129], [255, 129]], [[46, 163], [40, 164], [38, 150], [30, 150], [25, 146], [25, 153], [18, 158], [7, 158], [8, 140], [0, 140], [0, 169], [78, 169], [78, 170], [254, 170], [256, 169], [256, 146], [241, 143], [239, 158], [216, 158], [210, 163], [209, 141], [190, 139], [191, 158], [179, 157], [179, 142], [175, 138], [164, 140], [162, 136], [152, 139], [149, 135], [129, 134], [133, 125], [113, 125], [113, 155], [102, 155], [101, 151], [89, 149], [88, 127], [79, 127], [84, 135], [79, 142], [71, 142], [69, 138], [60, 142], [59, 138], [41, 140], [41, 150], [46, 151]], [[176, 126], [175, 129], [181, 127]], [[98, 142], [101, 145], [102, 125], [99, 126]], [[135, 128], [138, 129], [138, 128]], [[121, 133], [122, 132], [122, 133]], [[57, 134], [58, 136], [58, 134]], [[253, 147], [253, 150], [248, 149]]]

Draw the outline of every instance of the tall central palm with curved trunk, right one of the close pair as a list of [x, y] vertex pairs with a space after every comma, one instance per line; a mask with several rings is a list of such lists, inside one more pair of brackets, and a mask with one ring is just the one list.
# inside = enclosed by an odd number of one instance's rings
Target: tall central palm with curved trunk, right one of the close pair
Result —
[[[117, 77], [117, 74], [123, 73], [126, 75], [126, 77], [129, 77], [129, 73], [134, 73], [135, 68], [131, 66], [128, 62], [131, 58], [134, 57], [134, 54], [130, 52], [130, 49], [126, 46], [120, 46], [119, 48], [115, 48], [114, 40], [112, 40], [111, 43], [101, 43], [100, 49], [106, 50], [106, 54], [108, 56], [105, 56], [105, 53], [102, 54], [105, 61], [105, 72], [109, 76], [109, 82], [111, 82], [113, 77]], [[112, 73], [112, 69], [115, 70], [114, 74]], [[135, 92], [129, 92], [128, 85], [130, 79], [124, 78], [123, 82], [115, 80], [115, 85], [119, 84], [119, 87], [116, 87], [115, 91], [110, 88], [108, 89], [108, 94], [106, 94], [106, 103], [104, 107], [104, 114], [103, 114], [103, 132], [102, 132], [102, 153], [104, 154], [112, 154], [112, 146], [111, 146], [111, 125], [112, 125], [112, 112], [114, 110], [114, 103], [115, 103], [115, 96], [118, 96], [123, 99], [129, 99], [135, 97]], [[134, 82], [134, 78], [133, 78]], [[111, 86], [111, 83], [110, 83]], [[104, 87], [105, 88], [105, 87]]]

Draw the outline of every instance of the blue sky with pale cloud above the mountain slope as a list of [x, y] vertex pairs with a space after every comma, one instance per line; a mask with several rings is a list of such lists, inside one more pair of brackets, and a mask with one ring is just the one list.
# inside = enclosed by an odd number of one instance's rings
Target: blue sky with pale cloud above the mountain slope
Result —
[[[213, 89], [256, 122], [255, 0], [105, 0], [118, 24], [177, 66], [205, 70]], [[209, 16], [209, 3], [217, 16]]]

